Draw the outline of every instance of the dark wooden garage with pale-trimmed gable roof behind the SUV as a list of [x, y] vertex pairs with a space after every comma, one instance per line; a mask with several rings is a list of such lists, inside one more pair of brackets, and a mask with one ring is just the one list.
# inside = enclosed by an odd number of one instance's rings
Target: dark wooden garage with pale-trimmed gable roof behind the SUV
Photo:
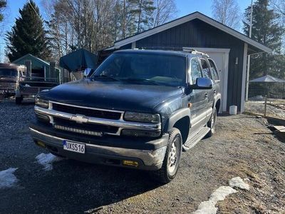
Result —
[[126, 39], [115, 41], [112, 49], [197, 49], [217, 64], [222, 86], [220, 111], [238, 106], [244, 111], [247, 56], [271, 49], [248, 36], [199, 12], [183, 16]]

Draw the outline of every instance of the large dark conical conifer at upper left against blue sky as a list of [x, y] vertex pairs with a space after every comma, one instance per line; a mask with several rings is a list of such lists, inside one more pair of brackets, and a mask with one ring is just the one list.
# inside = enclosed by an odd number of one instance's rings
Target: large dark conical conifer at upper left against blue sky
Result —
[[19, 13], [21, 16], [6, 34], [6, 56], [10, 61], [26, 54], [48, 60], [50, 57], [48, 39], [38, 6], [33, 1], [28, 1]]

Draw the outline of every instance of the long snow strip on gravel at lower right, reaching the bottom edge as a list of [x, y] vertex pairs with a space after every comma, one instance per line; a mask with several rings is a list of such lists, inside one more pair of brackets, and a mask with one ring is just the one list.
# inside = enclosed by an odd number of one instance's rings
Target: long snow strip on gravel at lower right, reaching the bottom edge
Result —
[[217, 213], [218, 208], [215, 208], [215, 205], [219, 200], [224, 200], [227, 195], [232, 193], [237, 193], [237, 190], [234, 190], [230, 186], [220, 186], [217, 190], [209, 196], [209, 200], [203, 201], [199, 204], [198, 209], [193, 214], [215, 214]]

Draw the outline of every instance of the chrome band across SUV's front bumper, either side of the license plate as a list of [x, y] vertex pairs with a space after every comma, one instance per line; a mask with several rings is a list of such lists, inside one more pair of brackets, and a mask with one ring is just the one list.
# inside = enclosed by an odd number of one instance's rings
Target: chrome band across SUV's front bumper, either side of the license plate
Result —
[[[40, 131], [36, 131], [33, 128], [29, 128], [31, 131], [31, 136], [36, 138], [38, 141], [43, 141], [43, 143], [56, 145], [62, 147], [62, 141], [67, 140], [64, 138], [59, 138], [56, 136], [51, 136]], [[68, 140], [70, 141], [70, 140]], [[78, 141], [71, 141], [74, 143], [82, 143]], [[93, 148], [96, 153], [109, 156], [127, 157], [127, 158], [139, 158], [143, 161], [145, 165], [157, 165], [163, 162], [165, 158], [165, 152], [167, 146], [157, 148], [156, 150], [138, 150], [132, 148], [118, 148], [110, 146], [99, 146], [90, 143], [85, 143], [86, 147]], [[88, 152], [88, 151], [87, 151]], [[95, 155], [95, 154], [94, 154]]]

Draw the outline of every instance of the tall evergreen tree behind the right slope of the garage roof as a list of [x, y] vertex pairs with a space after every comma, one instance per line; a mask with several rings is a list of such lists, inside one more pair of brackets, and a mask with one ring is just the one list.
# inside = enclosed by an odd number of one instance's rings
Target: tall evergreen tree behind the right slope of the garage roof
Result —
[[[257, 54], [252, 56], [250, 64], [250, 78], [257, 78], [266, 74], [281, 76], [276, 68], [276, 56], [281, 51], [281, 36], [284, 29], [279, 25], [279, 16], [269, 9], [268, 0], [258, 0], [253, 5], [252, 39], [274, 50], [275, 55]], [[250, 6], [244, 16], [244, 33], [249, 35]]]

